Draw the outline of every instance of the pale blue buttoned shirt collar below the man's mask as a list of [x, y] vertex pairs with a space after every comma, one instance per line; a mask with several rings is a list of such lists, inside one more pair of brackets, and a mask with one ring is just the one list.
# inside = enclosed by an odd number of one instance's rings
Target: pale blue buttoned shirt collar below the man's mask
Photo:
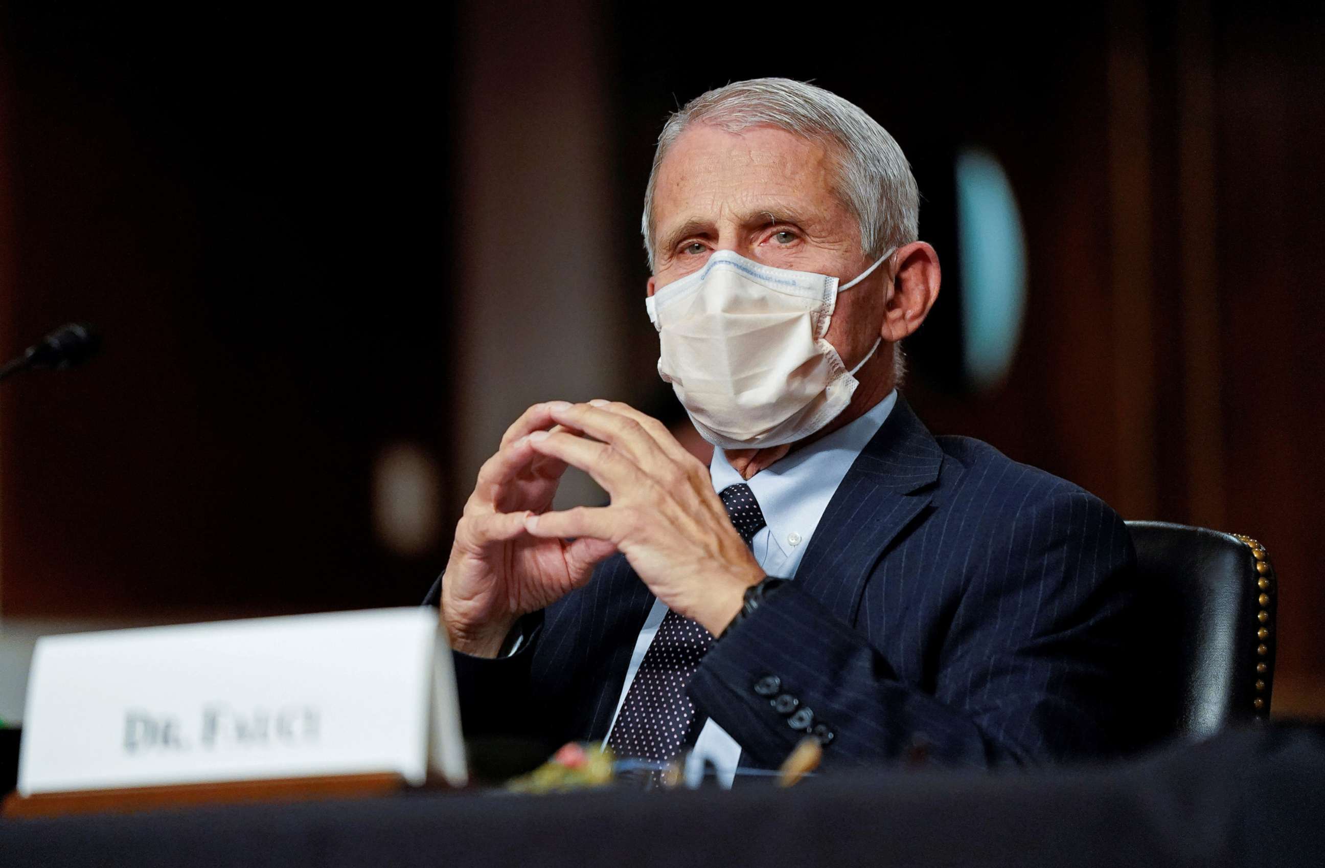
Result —
[[[721, 492], [729, 485], [746, 482], [759, 501], [765, 521], [768, 522], [770, 542], [783, 553], [788, 553], [788, 549], [804, 551], [833, 492], [837, 490], [861, 449], [878, 433], [896, 404], [897, 390], [893, 390], [860, 419], [779, 459], [750, 480], [742, 480], [735, 468], [727, 462], [722, 449], [714, 449], [709, 465], [713, 490]], [[790, 539], [799, 542], [792, 546]]]

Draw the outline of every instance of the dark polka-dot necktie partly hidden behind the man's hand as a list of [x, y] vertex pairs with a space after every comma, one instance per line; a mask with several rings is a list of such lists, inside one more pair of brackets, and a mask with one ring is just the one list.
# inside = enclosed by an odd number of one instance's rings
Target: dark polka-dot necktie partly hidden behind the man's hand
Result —
[[[766, 523], [754, 492], [745, 482], [738, 482], [722, 489], [718, 497], [749, 546]], [[685, 694], [685, 684], [712, 644], [709, 631], [689, 618], [668, 611], [612, 726], [607, 743], [619, 758], [668, 762], [698, 735], [698, 732], [692, 732], [697, 730], [694, 705]], [[653, 782], [659, 778], [657, 774], [649, 777]]]

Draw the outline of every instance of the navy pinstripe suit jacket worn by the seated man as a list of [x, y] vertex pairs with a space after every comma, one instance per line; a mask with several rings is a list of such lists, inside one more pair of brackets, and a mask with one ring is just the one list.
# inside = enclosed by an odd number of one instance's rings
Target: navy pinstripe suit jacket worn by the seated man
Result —
[[[776, 766], [802, 737], [754, 692], [766, 675], [835, 732], [825, 766], [1126, 750], [1142, 738], [1124, 694], [1137, 672], [1134, 559], [1102, 501], [978, 440], [935, 439], [898, 398], [795, 582], [713, 645], [688, 690], [745, 765]], [[652, 603], [613, 555], [527, 619], [517, 655], [457, 655], [466, 735], [603, 738]]]

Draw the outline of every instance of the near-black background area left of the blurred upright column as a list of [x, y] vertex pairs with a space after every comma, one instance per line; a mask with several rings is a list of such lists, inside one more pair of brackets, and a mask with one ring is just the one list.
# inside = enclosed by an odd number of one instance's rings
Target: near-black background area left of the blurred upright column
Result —
[[[11, 4], [7, 615], [403, 603], [378, 445], [444, 451], [453, 23]], [[421, 570], [421, 571], [420, 571]]]

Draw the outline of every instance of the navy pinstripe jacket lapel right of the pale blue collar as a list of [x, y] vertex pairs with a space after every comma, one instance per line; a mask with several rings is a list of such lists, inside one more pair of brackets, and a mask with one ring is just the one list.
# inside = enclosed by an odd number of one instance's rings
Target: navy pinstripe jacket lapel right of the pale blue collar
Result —
[[865, 580], [884, 550], [933, 497], [943, 451], [898, 395], [856, 456], [810, 541], [796, 584], [855, 623]]

